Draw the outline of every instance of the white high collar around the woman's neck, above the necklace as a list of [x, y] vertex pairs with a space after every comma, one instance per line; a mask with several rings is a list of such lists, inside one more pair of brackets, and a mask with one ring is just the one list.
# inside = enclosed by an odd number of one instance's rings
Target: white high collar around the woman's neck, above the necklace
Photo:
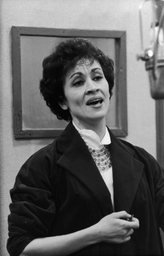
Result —
[[80, 133], [81, 138], [85, 141], [87, 146], [94, 148], [96, 150], [101, 149], [104, 145], [108, 145], [111, 143], [110, 135], [108, 132], [108, 129], [106, 127], [106, 132], [102, 140], [100, 140], [99, 136], [97, 135], [96, 132], [92, 130], [87, 130], [87, 129], [79, 129], [75, 123], [72, 121], [74, 127], [76, 130]]

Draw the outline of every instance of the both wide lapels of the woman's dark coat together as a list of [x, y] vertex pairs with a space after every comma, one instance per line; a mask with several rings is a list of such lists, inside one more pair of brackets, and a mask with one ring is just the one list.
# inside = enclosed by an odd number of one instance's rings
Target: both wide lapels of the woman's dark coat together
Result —
[[[143, 164], [133, 157], [134, 150], [120, 142], [110, 130], [109, 133], [115, 212], [129, 212], [139, 185]], [[72, 122], [58, 138], [56, 147], [57, 152], [61, 154], [57, 164], [84, 185], [95, 198], [104, 216], [112, 213], [110, 192]]]

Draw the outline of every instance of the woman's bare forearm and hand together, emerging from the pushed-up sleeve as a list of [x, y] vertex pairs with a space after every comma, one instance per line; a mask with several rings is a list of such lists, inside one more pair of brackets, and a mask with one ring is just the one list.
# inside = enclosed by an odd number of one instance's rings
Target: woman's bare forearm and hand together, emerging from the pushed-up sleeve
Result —
[[125, 220], [130, 217], [125, 211], [116, 212], [91, 227], [71, 234], [36, 238], [19, 256], [64, 256], [98, 242], [125, 243], [130, 240], [133, 229], [139, 228], [138, 219], [133, 217], [131, 222]]

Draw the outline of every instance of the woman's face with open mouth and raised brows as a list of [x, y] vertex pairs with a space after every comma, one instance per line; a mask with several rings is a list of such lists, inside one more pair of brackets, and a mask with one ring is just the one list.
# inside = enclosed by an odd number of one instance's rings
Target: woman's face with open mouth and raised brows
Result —
[[109, 86], [96, 60], [92, 65], [89, 60], [77, 63], [66, 75], [63, 89], [66, 100], [60, 106], [69, 109], [77, 126], [105, 119], [109, 109]]

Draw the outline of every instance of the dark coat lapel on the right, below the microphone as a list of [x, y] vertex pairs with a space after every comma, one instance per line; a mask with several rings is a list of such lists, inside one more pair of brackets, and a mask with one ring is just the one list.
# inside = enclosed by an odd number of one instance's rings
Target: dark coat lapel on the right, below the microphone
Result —
[[130, 212], [144, 164], [135, 158], [135, 151], [118, 140], [109, 130], [113, 168], [115, 212]]

